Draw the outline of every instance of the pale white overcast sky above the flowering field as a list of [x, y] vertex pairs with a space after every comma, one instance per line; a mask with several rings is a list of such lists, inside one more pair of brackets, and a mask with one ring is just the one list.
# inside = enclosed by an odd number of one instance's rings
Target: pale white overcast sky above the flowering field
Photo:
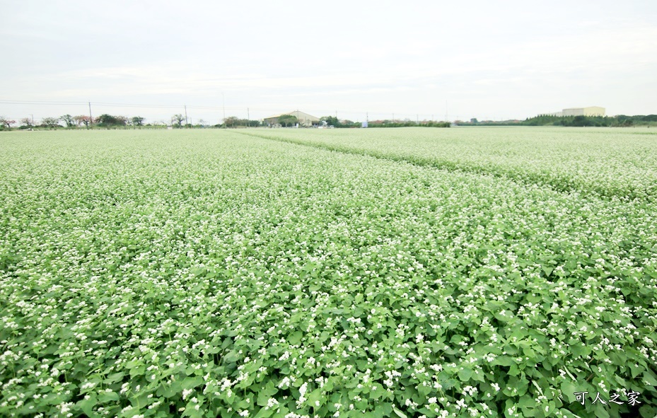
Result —
[[94, 115], [170, 120], [187, 104], [219, 123], [222, 93], [226, 116], [252, 119], [657, 113], [653, 0], [0, 4], [0, 115], [16, 120], [91, 100]]

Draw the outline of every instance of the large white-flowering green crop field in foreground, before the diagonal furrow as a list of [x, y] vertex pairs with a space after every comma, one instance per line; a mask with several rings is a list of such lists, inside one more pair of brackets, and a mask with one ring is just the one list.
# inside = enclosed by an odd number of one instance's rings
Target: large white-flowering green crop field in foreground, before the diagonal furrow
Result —
[[231, 132], [0, 147], [2, 416], [657, 412], [644, 199]]

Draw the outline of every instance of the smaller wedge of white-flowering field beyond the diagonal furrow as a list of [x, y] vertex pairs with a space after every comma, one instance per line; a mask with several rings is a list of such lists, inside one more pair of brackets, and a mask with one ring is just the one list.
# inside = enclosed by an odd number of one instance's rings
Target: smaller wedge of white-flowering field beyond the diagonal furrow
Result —
[[258, 136], [547, 185], [562, 192], [657, 196], [657, 132], [646, 129], [277, 129]]

